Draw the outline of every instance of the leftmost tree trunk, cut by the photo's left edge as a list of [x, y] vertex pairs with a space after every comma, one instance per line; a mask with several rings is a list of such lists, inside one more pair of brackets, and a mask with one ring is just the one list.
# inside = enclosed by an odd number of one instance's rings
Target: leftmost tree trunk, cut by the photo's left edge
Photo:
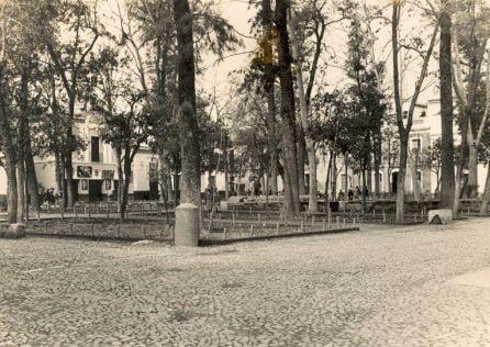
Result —
[[8, 223], [16, 223], [18, 221], [18, 182], [15, 172], [15, 146], [10, 128], [9, 115], [5, 107], [4, 90], [4, 65], [0, 61], [0, 131], [3, 144], [3, 155], [5, 157], [4, 166], [7, 174], [7, 205], [8, 205]]

